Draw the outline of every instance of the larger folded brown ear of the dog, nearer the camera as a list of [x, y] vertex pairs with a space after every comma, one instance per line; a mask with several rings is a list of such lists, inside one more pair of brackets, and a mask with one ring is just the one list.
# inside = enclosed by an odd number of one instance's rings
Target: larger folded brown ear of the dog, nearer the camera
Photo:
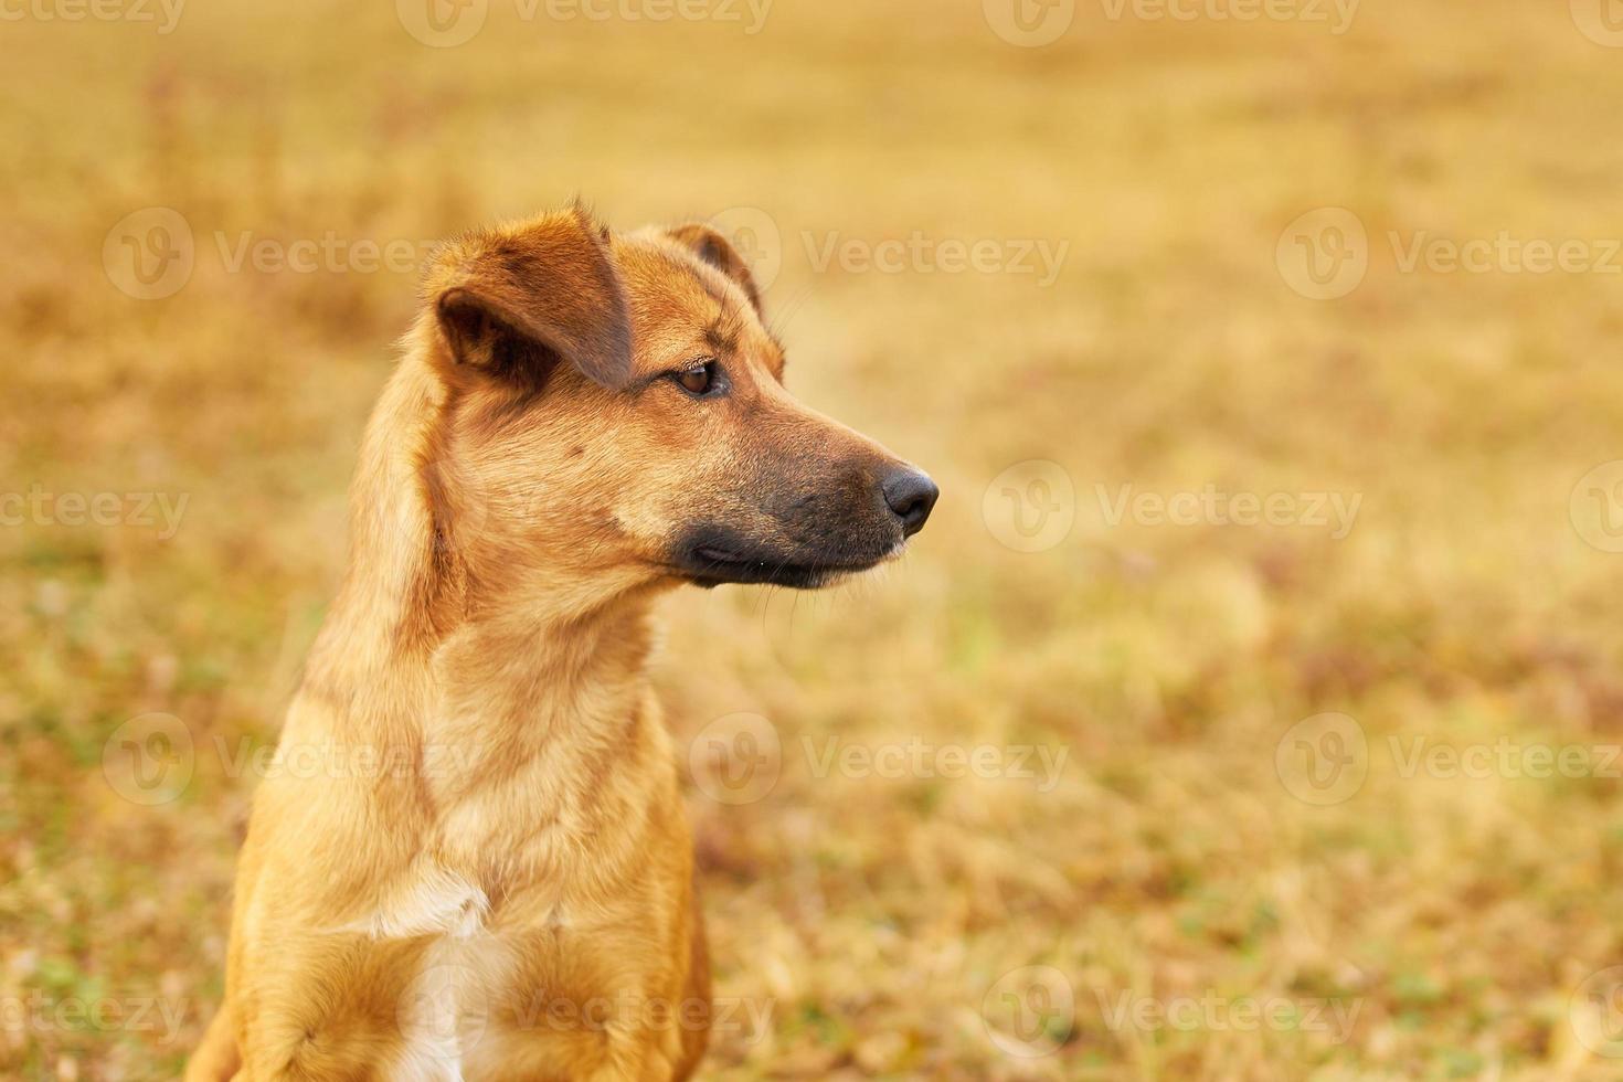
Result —
[[631, 315], [607, 230], [584, 208], [446, 245], [428, 271], [448, 360], [539, 389], [560, 360], [631, 378]]

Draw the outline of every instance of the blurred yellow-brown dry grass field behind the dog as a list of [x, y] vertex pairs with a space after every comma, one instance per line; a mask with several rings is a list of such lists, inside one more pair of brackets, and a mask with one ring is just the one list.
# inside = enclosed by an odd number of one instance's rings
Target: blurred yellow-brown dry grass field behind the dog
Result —
[[415, 268], [579, 193], [724, 227], [790, 388], [945, 493], [872, 581], [664, 605], [703, 1077], [1623, 1077], [1613, 0], [0, 50], [0, 1076], [177, 1076]]

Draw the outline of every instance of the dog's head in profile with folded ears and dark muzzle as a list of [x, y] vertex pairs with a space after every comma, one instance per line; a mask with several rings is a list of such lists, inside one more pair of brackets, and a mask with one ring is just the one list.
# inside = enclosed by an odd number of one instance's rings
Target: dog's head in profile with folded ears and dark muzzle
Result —
[[437, 256], [425, 303], [448, 393], [424, 480], [485, 563], [810, 589], [899, 553], [935, 505], [790, 397], [750, 269], [706, 225], [613, 235], [575, 208], [482, 232]]

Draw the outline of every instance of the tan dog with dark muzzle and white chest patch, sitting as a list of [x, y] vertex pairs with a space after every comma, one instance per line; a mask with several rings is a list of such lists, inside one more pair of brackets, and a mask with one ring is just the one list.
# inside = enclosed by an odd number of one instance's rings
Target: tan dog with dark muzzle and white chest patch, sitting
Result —
[[936, 498], [782, 375], [703, 225], [575, 208], [433, 260], [188, 1080], [691, 1074], [709, 988], [651, 602], [872, 568]]

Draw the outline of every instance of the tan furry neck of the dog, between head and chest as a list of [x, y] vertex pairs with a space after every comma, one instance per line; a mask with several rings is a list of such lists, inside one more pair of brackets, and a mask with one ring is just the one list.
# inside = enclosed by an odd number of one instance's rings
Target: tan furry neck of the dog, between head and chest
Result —
[[[445, 386], [417, 357], [367, 427], [351, 500], [351, 565], [312, 650], [305, 688], [355, 740], [411, 740], [477, 759], [524, 754], [562, 732], [623, 723], [646, 686], [659, 586], [612, 594], [510, 574], [480, 594], [422, 483]], [[477, 762], [463, 762], [479, 774]]]

